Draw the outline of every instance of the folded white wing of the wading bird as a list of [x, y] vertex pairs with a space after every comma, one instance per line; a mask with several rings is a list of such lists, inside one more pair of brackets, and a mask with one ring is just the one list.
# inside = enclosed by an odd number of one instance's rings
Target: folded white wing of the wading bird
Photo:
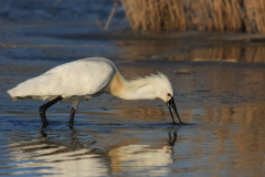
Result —
[[44, 74], [30, 79], [8, 93], [12, 97], [39, 97], [50, 100], [84, 96], [102, 91], [113, 79], [115, 69], [104, 61], [78, 60], [59, 65]]

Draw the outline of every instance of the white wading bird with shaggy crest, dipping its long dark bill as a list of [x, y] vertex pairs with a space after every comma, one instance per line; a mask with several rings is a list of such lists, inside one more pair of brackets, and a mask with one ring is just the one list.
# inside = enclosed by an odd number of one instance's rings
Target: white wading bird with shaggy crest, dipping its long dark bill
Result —
[[47, 126], [45, 111], [57, 102], [71, 103], [70, 125], [81, 100], [109, 93], [124, 100], [161, 98], [174, 110], [173, 88], [162, 73], [127, 81], [116, 65], [105, 58], [87, 58], [59, 65], [44, 74], [26, 80], [8, 91], [12, 100], [50, 101], [40, 106], [43, 126]]

